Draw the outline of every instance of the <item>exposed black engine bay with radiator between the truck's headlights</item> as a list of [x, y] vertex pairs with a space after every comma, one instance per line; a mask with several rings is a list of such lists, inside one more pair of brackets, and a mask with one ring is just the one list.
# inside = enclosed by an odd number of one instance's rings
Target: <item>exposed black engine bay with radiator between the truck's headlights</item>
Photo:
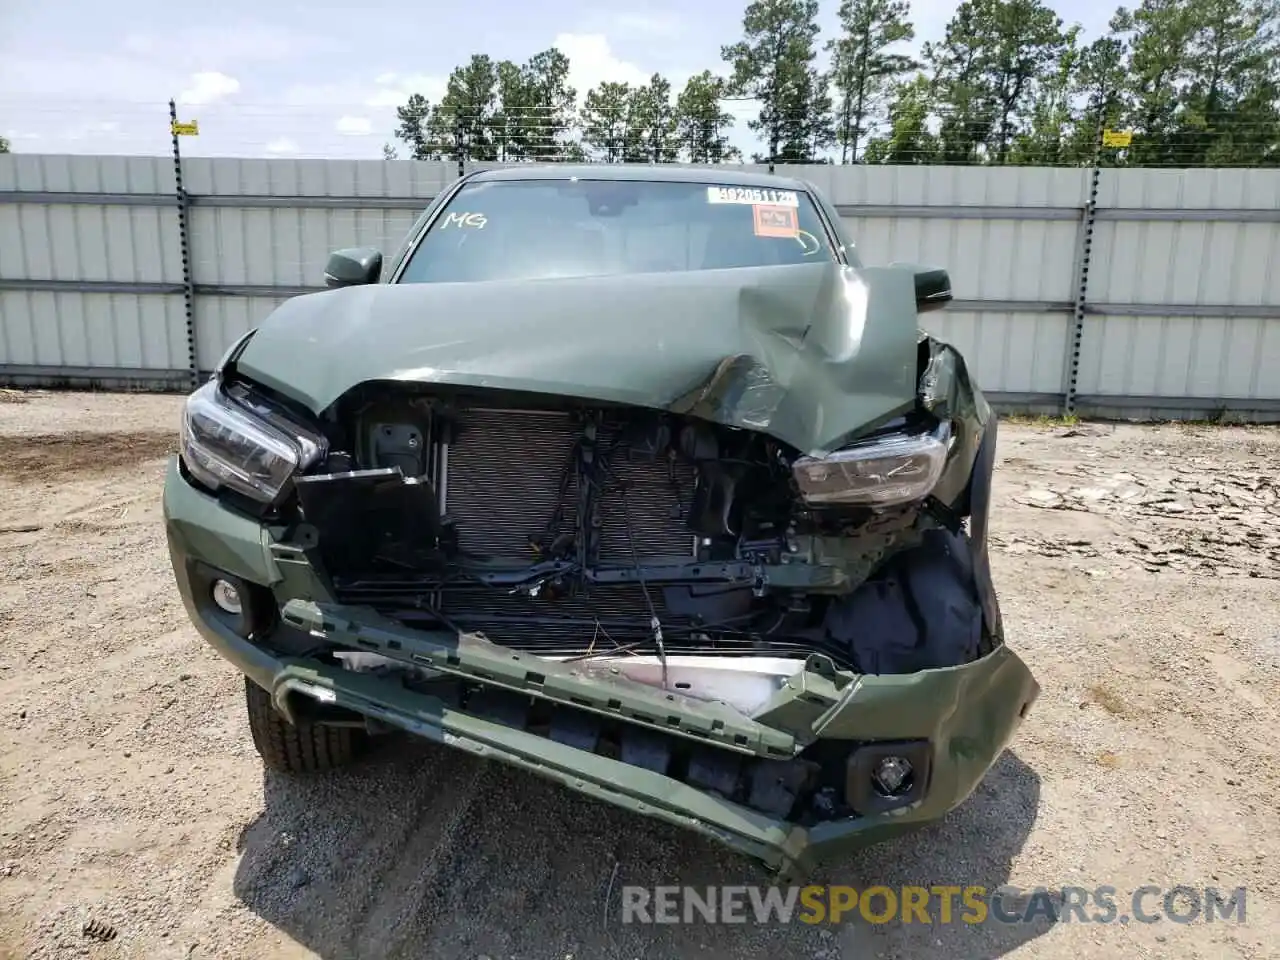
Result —
[[696, 417], [475, 392], [356, 393], [296, 481], [342, 603], [548, 657], [852, 666], [840, 603], [919, 504], [813, 508], [797, 453]]

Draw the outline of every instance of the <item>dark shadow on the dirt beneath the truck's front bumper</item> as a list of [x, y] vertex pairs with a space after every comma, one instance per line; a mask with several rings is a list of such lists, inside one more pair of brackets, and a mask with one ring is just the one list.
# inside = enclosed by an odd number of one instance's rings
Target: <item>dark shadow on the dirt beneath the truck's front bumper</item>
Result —
[[[974, 925], [855, 919], [636, 925], [625, 884], [765, 884], [692, 833], [433, 744], [389, 745], [357, 769], [268, 774], [266, 809], [244, 829], [237, 896], [326, 960], [346, 957], [910, 957], [988, 960], [1051, 922]], [[943, 823], [824, 868], [856, 887], [1007, 882], [1036, 819], [1039, 777], [1006, 753]]]

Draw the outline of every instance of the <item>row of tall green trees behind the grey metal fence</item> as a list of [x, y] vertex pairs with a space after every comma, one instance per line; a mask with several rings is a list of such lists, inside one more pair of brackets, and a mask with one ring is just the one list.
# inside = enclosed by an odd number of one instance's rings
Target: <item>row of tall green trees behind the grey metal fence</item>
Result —
[[[915, 38], [909, 0], [753, 0], [722, 69], [680, 91], [660, 74], [600, 83], [579, 106], [557, 49], [525, 64], [475, 54], [431, 104], [397, 110], [420, 160], [722, 163], [726, 105], [753, 101], [755, 163], [1275, 165], [1280, 0], [1142, 0], [1089, 42], [1041, 0], [964, 0], [942, 40]], [[394, 147], [384, 147], [388, 156]]]

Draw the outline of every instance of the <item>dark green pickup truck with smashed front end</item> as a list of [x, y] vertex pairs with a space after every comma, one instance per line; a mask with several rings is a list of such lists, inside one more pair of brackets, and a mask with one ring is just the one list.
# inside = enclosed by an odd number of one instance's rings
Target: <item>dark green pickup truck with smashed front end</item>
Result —
[[812, 184], [468, 175], [187, 401], [178, 588], [268, 767], [410, 732], [795, 876], [964, 800], [1039, 687], [996, 417]]

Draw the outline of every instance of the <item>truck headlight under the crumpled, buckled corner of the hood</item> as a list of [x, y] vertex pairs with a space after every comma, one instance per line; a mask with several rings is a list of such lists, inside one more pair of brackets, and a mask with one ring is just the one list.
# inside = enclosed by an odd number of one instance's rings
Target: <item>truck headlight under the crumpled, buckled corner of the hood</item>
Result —
[[826, 457], [794, 465], [806, 503], [892, 506], [918, 500], [934, 488], [947, 462], [951, 429], [893, 433], [860, 440]]

